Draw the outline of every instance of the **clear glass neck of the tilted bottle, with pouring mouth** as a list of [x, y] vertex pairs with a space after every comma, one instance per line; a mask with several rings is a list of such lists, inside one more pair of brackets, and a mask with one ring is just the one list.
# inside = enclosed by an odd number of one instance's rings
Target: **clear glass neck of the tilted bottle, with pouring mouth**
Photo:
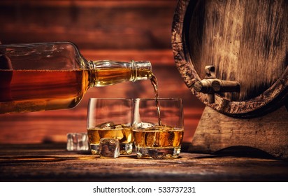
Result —
[[90, 86], [105, 86], [124, 81], [148, 80], [152, 78], [150, 62], [115, 62], [110, 60], [89, 61]]

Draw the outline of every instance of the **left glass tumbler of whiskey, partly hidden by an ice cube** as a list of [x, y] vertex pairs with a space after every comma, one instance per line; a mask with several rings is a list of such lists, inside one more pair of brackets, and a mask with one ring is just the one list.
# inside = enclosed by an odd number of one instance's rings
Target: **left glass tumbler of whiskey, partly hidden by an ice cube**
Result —
[[133, 150], [133, 99], [90, 98], [87, 112], [87, 134], [92, 155], [99, 155], [102, 138], [117, 139], [120, 154]]

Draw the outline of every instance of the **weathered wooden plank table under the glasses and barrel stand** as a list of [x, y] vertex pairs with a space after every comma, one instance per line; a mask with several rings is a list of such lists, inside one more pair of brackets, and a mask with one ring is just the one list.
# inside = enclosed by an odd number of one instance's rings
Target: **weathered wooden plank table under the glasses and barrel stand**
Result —
[[[183, 151], [187, 151], [187, 144]], [[288, 162], [183, 152], [175, 160], [96, 158], [66, 144], [0, 145], [0, 181], [288, 181]]]

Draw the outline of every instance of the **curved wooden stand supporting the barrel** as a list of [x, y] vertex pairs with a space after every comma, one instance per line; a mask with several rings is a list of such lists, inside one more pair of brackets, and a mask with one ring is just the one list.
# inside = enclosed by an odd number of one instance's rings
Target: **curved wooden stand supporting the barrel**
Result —
[[[266, 116], [237, 119], [206, 106], [192, 141], [193, 152], [215, 153], [226, 148], [234, 154], [249, 148], [288, 160], [288, 113], [285, 106]], [[245, 147], [245, 148], [244, 148]]]

